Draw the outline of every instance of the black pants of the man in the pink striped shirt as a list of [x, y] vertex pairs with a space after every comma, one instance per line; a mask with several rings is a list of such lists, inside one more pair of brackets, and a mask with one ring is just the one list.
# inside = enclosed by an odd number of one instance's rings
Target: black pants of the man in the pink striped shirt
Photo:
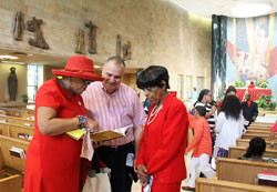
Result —
[[111, 169], [112, 192], [131, 192], [134, 169], [126, 166], [126, 156], [134, 153], [134, 144], [127, 143], [119, 146], [100, 146], [99, 159]]

